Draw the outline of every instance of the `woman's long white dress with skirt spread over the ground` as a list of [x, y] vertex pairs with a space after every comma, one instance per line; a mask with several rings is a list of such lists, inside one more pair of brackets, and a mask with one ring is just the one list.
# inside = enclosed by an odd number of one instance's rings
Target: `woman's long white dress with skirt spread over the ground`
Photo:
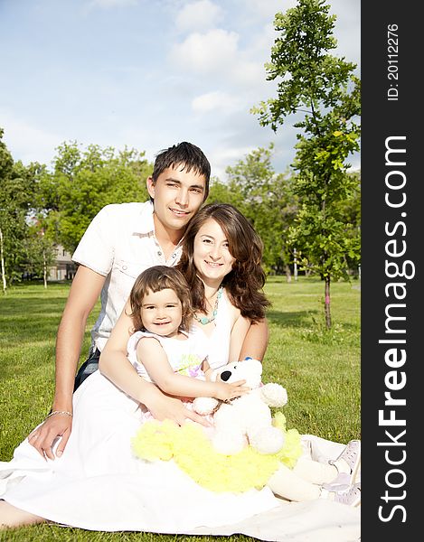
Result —
[[[212, 367], [228, 360], [229, 307], [223, 295], [212, 337], [199, 331]], [[77, 389], [73, 408], [71, 437], [61, 458], [44, 461], [25, 439], [12, 461], [0, 463], [0, 499], [73, 527], [176, 534], [237, 523], [278, 506], [269, 488], [214, 493], [172, 461], [145, 463], [135, 457], [131, 438], [143, 414], [99, 370]]]

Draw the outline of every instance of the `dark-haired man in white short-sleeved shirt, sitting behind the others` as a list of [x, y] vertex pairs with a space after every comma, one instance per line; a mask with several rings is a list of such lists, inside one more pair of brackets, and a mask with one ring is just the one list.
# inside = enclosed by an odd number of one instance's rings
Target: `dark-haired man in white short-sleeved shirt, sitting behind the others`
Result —
[[[147, 267], [173, 266], [181, 256], [181, 239], [194, 213], [208, 197], [211, 165], [202, 150], [190, 143], [173, 145], [157, 154], [154, 172], [147, 179], [150, 201], [107, 205], [99, 211], [80, 240], [72, 259], [80, 264], [72, 281], [56, 339], [56, 388], [52, 413], [30, 443], [54, 459], [52, 444], [61, 436], [56, 454], [61, 455], [71, 435], [72, 394], [98, 369], [99, 355], [118, 320], [136, 277]], [[91, 331], [90, 355], [75, 372], [87, 318], [101, 300], [99, 318]], [[249, 355], [261, 359], [268, 330], [251, 326]], [[255, 335], [261, 334], [257, 340]], [[248, 352], [242, 351], [243, 355]], [[182, 424], [200, 416], [181, 401], [164, 396], [158, 417]]]

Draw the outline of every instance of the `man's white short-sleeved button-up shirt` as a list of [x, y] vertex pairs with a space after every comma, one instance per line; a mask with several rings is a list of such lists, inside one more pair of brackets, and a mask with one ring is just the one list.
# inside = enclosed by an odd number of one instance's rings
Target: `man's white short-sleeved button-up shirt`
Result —
[[92, 346], [103, 349], [137, 276], [147, 267], [174, 266], [181, 252], [180, 244], [165, 260], [155, 238], [151, 201], [114, 203], [99, 210], [72, 255], [77, 264], [107, 277], [99, 318], [91, 330]]

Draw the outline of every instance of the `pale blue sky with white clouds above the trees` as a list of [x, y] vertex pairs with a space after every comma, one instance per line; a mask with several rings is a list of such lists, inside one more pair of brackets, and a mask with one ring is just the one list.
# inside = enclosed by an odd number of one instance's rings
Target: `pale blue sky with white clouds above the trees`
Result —
[[[360, 63], [360, 0], [328, 0], [347, 61]], [[146, 151], [199, 145], [212, 175], [296, 132], [259, 126], [274, 14], [295, 0], [0, 0], [0, 126], [14, 160], [52, 164], [64, 141]], [[359, 156], [351, 160], [359, 166]]]

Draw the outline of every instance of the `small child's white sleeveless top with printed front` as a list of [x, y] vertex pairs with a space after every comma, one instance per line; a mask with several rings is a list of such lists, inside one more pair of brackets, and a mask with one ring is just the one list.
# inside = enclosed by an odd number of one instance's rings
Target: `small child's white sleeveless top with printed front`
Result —
[[153, 381], [144, 365], [137, 360], [137, 344], [143, 337], [153, 337], [160, 342], [174, 372], [187, 377], [202, 377], [201, 367], [207, 356], [209, 345], [207, 341], [204, 341], [204, 334], [198, 328], [193, 327], [190, 333], [183, 333], [186, 337], [183, 340], [162, 337], [151, 332], [135, 332], [131, 335], [127, 342], [127, 357], [137, 369], [140, 377], [146, 378], [150, 382]]

